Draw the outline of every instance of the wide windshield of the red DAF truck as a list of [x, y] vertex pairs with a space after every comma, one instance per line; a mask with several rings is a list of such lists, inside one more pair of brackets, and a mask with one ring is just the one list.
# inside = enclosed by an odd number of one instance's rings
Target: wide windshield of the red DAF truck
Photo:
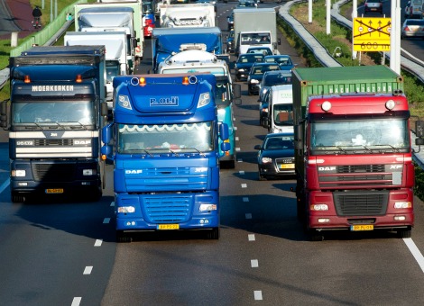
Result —
[[[363, 149], [408, 151], [410, 134], [406, 119], [311, 122], [311, 149], [356, 151]], [[322, 154], [322, 152], [316, 152]]]

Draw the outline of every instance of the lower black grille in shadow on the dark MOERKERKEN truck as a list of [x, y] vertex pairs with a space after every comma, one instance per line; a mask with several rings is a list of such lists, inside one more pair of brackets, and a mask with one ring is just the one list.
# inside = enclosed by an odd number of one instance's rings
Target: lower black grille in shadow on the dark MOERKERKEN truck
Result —
[[32, 175], [36, 182], [71, 182], [75, 180], [75, 173], [75, 165], [32, 164]]

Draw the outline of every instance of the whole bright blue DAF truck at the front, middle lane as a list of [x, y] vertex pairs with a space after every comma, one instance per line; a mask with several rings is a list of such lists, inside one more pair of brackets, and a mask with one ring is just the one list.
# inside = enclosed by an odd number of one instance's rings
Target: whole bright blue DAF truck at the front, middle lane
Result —
[[216, 77], [116, 76], [114, 88], [102, 157], [114, 159], [117, 241], [167, 229], [219, 238], [218, 138], [228, 139], [228, 126], [217, 120]]

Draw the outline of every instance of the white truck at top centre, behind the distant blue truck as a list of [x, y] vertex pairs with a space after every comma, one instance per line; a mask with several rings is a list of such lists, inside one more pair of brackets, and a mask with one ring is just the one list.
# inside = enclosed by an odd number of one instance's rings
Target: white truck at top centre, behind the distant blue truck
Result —
[[213, 4], [161, 4], [161, 28], [214, 27]]

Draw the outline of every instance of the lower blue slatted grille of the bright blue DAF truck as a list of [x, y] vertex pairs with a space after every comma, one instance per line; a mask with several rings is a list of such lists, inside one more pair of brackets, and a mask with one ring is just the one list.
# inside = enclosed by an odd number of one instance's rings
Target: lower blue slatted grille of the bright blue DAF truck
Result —
[[147, 219], [156, 223], [184, 222], [189, 220], [192, 198], [189, 196], [164, 196], [144, 198]]

